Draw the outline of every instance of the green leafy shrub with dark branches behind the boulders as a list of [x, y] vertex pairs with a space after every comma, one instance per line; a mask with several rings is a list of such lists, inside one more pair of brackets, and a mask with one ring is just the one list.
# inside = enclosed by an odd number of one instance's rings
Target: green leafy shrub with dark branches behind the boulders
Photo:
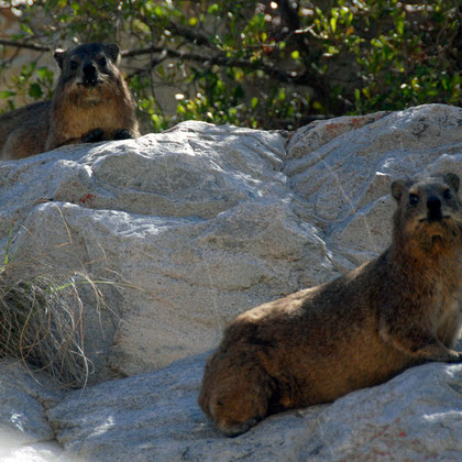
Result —
[[[148, 130], [188, 119], [294, 129], [321, 116], [460, 103], [458, 0], [51, 0], [16, 9], [16, 43], [128, 48]], [[24, 94], [46, 98], [52, 76], [33, 64], [0, 97], [10, 107]], [[166, 88], [176, 109], [164, 108]]]

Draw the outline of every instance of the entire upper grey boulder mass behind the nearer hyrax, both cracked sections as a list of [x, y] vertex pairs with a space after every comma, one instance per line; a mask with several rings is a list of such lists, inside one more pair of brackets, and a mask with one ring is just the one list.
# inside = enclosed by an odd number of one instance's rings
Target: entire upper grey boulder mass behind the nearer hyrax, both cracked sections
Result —
[[[462, 174], [462, 110], [429, 105], [290, 135], [185, 122], [0, 163], [0, 249], [87, 268], [94, 380], [213, 348], [239, 312], [328, 280], [389, 242], [392, 179]], [[51, 201], [50, 199], [53, 199]]]

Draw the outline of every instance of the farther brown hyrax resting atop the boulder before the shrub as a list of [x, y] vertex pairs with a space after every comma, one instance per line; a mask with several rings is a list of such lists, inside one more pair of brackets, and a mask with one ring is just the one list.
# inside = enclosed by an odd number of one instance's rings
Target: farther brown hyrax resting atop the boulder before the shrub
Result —
[[62, 73], [53, 99], [0, 116], [0, 160], [140, 135], [135, 103], [118, 67], [118, 45], [79, 45], [57, 50], [54, 57]]

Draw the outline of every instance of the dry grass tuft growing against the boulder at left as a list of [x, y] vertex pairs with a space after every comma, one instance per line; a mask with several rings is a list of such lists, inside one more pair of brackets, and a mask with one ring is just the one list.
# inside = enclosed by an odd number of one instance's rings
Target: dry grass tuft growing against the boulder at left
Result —
[[85, 386], [92, 364], [85, 354], [85, 316], [79, 293], [90, 287], [96, 309], [105, 306], [98, 284], [82, 272], [51, 276], [44, 261], [24, 255], [0, 264], [0, 356], [19, 358], [46, 371], [64, 387]]

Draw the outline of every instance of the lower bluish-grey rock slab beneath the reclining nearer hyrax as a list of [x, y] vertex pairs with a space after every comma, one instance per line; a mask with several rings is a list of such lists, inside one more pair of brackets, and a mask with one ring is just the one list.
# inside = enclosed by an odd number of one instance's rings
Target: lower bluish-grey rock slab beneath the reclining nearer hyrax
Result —
[[64, 457], [88, 461], [450, 461], [462, 453], [462, 365], [426, 364], [332, 405], [228, 439], [197, 405], [205, 355], [76, 391], [48, 411]]

